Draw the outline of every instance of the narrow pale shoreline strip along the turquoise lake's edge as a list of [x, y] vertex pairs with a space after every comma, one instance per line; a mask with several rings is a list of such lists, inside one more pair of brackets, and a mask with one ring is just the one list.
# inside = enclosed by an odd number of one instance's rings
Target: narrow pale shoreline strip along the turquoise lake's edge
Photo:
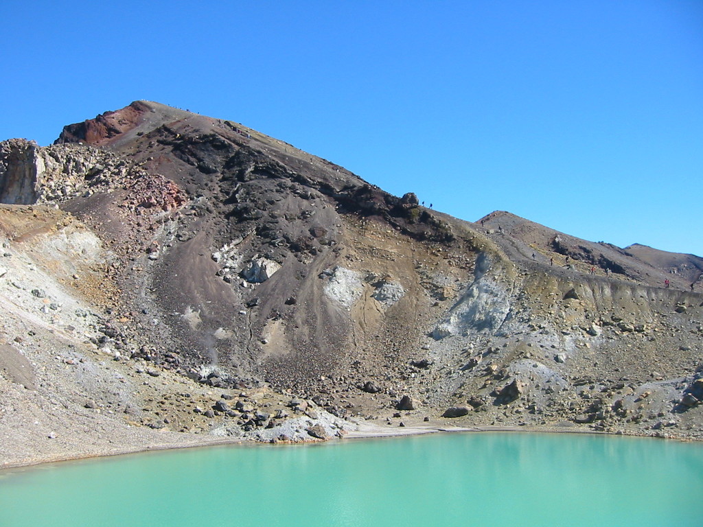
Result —
[[[324, 443], [341, 443], [343, 441], [359, 441], [363, 439], [382, 439], [382, 438], [400, 438], [405, 436], [422, 436], [425, 434], [457, 434], [457, 433], [491, 433], [491, 432], [522, 432], [526, 434], [593, 434], [600, 436], [626, 436], [626, 437], [638, 437], [638, 438], [649, 438], [649, 439], [659, 439], [667, 441], [678, 441], [681, 443], [703, 443], [703, 440], [696, 438], [681, 438], [681, 437], [671, 437], [671, 436], [650, 436], [643, 434], [632, 434], [632, 433], [612, 433], [607, 431], [598, 430], [586, 430], [586, 429], [576, 429], [576, 427], [569, 427], [569, 429], [560, 427], [544, 427], [544, 428], [525, 428], [517, 426], [475, 426], [475, 427], [460, 427], [460, 426], [440, 426], [437, 425], [427, 425], [427, 426], [411, 426], [385, 429], [378, 424], [368, 424], [366, 422], [356, 423], [358, 427], [356, 430], [349, 431], [342, 438], [331, 438], [328, 441], [305, 441], [305, 442], [281, 442], [276, 443], [278, 445], [313, 445], [313, 444], [324, 444]], [[179, 443], [178, 441], [167, 442], [155, 445], [141, 445], [135, 448], [122, 448], [119, 450], [96, 452], [96, 453], [79, 453], [76, 455], [69, 456], [56, 456], [48, 458], [34, 458], [30, 461], [22, 462], [8, 462], [7, 464], [0, 465], [0, 476], [6, 471], [12, 471], [15, 469], [28, 469], [30, 467], [39, 467], [45, 464], [72, 462], [79, 460], [89, 460], [98, 457], [116, 457], [120, 455], [129, 454], [140, 454], [148, 452], [157, 452], [160, 450], [181, 450], [185, 448], [207, 448], [211, 446], [226, 446], [226, 445], [271, 445], [271, 443], [254, 441], [247, 438], [212, 438], [198, 441], [187, 441], [184, 443]]]

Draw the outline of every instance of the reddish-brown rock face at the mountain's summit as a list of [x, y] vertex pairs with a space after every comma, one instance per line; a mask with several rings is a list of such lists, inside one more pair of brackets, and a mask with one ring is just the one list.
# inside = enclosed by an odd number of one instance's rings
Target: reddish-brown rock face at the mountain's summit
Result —
[[141, 116], [148, 110], [148, 106], [137, 100], [121, 110], [105, 112], [95, 119], [69, 124], [63, 127], [56, 144], [81, 142], [89, 145], [103, 145], [111, 138], [134, 129], [139, 124]]

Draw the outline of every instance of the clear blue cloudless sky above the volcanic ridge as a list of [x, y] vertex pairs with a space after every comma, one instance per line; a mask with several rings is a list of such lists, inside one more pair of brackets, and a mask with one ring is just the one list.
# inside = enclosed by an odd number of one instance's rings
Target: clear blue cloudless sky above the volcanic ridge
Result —
[[470, 221], [703, 256], [703, 0], [2, 0], [0, 22], [0, 140], [155, 100]]

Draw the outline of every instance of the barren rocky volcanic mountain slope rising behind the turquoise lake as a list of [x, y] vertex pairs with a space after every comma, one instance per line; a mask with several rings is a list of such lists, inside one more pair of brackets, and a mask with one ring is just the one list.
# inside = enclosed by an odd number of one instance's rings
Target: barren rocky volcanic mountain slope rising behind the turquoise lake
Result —
[[0, 143], [0, 201], [4, 462], [342, 418], [703, 435], [697, 256], [460, 221], [147, 101]]

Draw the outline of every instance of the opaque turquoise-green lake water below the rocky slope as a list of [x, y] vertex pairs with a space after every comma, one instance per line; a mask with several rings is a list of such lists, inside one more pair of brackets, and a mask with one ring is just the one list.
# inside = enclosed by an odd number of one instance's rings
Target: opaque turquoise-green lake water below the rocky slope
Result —
[[0, 472], [0, 526], [703, 525], [703, 445], [433, 434]]

